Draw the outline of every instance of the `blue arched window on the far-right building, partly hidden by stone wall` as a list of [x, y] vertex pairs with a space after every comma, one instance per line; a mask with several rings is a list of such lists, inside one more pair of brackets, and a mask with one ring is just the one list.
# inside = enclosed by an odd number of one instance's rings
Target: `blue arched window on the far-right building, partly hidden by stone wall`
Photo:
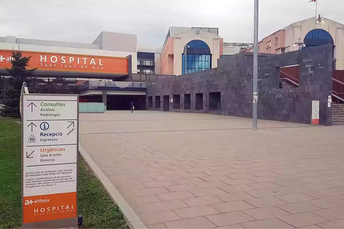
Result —
[[309, 31], [307, 35], [304, 37], [303, 42], [305, 44], [304, 48], [310, 48], [326, 44], [334, 45], [331, 34], [321, 28], [316, 28], [314, 30]]

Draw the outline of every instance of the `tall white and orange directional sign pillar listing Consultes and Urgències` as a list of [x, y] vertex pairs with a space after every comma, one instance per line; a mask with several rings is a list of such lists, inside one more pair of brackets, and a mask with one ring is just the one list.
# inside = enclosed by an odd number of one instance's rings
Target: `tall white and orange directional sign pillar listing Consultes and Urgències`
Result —
[[77, 226], [78, 95], [22, 102], [22, 228]]

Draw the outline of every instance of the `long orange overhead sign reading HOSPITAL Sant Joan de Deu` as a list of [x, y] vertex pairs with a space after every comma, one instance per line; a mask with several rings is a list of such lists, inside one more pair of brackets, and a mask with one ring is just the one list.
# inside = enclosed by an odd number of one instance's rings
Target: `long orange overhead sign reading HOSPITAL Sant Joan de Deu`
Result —
[[[128, 74], [128, 59], [125, 57], [89, 56], [61, 53], [39, 53], [22, 51], [24, 57], [31, 56], [29, 69], [43, 71], [72, 71], [88, 73]], [[0, 50], [0, 68], [11, 68], [12, 50]]]

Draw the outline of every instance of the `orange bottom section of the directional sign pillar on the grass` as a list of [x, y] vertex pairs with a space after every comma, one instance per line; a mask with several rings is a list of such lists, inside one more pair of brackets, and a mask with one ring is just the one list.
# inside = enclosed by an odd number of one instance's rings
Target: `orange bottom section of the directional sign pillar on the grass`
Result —
[[23, 223], [77, 217], [76, 192], [23, 198]]

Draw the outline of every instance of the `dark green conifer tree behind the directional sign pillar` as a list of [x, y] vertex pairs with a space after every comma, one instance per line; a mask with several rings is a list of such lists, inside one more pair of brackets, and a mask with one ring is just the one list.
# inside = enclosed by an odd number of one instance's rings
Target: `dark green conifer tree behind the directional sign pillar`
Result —
[[26, 69], [31, 57], [23, 57], [20, 51], [12, 52], [11, 68], [6, 68], [11, 76], [8, 79], [9, 87], [5, 89], [4, 93], [7, 99], [4, 101], [4, 106], [0, 110], [0, 116], [3, 117], [20, 117], [19, 102], [20, 92], [26, 79], [33, 77], [35, 69]]

